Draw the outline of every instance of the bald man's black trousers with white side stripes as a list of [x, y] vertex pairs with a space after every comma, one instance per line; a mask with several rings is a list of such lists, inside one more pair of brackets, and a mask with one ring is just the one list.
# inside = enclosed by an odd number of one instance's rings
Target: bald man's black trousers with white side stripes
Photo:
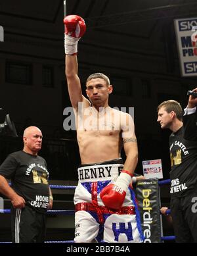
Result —
[[11, 209], [12, 243], [45, 242], [46, 215], [26, 205]]

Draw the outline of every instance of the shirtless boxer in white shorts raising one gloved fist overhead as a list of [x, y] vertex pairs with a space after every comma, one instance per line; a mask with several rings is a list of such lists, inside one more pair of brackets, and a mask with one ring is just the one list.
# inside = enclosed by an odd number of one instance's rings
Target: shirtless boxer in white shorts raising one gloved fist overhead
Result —
[[[108, 97], [112, 85], [102, 73], [86, 82], [86, 99], [77, 76], [77, 42], [85, 22], [77, 15], [64, 18], [66, 78], [76, 114], [77, 141], [81, 157], [76, 206], [75, 242], [141, 242], [141, 224], [135, 195], [129, 189], [137, 165], [138, 149], [133, 119], [112, 109]], [[120, 151], [127, 156], [123, 165]]]

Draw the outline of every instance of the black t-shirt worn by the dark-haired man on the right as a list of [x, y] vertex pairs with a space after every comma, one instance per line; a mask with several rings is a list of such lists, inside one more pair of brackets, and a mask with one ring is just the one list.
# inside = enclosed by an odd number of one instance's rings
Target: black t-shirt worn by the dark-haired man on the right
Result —
[[169, 137], [171, 197], [197, 189], [197, 114], [183, 116], [183, 127]]

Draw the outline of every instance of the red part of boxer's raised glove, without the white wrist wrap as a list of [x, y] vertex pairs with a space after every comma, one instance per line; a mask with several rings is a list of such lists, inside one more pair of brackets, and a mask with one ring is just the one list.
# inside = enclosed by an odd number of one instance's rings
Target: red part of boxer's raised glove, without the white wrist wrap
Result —
[[85, 21], [78, 15], [68, 15], [64, 18], [65, 34], [74, 38], [81, 38], [85, 33]]

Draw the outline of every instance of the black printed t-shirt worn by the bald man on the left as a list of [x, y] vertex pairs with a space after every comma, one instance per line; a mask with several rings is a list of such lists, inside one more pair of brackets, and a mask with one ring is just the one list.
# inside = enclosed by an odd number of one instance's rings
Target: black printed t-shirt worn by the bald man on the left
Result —
[[11, 179], [13, 190], [40, 213], [49, 205], [49, 172], [43, 157], [24, 151], [11, 153], [0, 166], [0, 175]]

